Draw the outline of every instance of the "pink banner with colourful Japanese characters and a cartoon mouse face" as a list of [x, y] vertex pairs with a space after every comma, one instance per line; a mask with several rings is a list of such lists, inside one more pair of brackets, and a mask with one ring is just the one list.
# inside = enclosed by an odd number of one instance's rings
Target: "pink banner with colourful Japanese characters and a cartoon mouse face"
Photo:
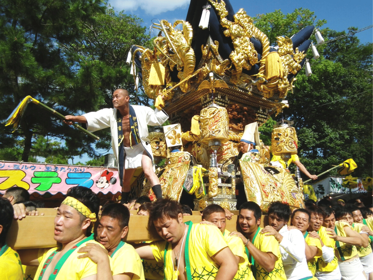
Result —
[[121, 191], [116, 168], [77, 165], [34, 164], [28, 162], [0, 162], [0, 193], [13, 186], [29, 193], [66, 194], [70, 187], [83, 186], [95, 193]]

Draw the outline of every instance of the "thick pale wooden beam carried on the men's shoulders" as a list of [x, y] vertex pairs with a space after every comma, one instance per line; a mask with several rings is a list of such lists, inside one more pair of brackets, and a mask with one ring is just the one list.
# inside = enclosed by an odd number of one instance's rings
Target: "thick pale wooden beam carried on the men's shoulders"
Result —
[[[44, 216], [27, 216], [21, 221], [14, 220], [10, 227], [7, 244], [15, 250], [32, 248], [51, 248], [57, 246], [53, 238], [55, 209], [44, 208]], [[52, 215], [52, 213], [54, 213]], [[48, 215], [47, 215], [48, 214]], [[231, 220], [226, 220], [226, 229], [237, 231], [237, 215]], [[184, 221], [200, 223], [201, 215], [184, 216]], [[161, 240], [157, 234], [151, 234], [147, 230], [148, 216], [131, 216], [129, 219], [129, 230], [125, 238], [127, 242], [140, 242], [150, 240]], [[268, 224], [267, 216], [262, 216], [261, 227]]]

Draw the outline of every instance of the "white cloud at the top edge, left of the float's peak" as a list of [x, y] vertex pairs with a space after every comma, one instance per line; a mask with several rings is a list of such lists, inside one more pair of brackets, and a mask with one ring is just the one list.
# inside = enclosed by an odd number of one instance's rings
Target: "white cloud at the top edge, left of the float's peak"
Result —
[[185, 7], [189, 0], [109, 0], [115, 10], [135, 11], [141, 8], [149, 15], [158, 15], [163, 12], [172, 11]]

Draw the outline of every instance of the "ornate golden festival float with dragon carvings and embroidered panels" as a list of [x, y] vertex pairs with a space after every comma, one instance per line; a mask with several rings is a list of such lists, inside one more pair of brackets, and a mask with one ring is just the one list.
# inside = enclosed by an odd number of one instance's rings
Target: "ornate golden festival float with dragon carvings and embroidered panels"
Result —
[[[292, 38], [277, 37], [278, 46], [272, 47], [243, 9], [232, 16], [223, 0], [209, 3], [199, 27], [195, 20], [155, 24], [161, 32], [154, 49], [132, 46], [127, 61], [132, 62], [135, 80], [140, 74], [147, 96], [169, 115], [171, 125], [150, 133], [156, 161], [166, 161], [157, 169], [163, 196], [180, 200], [185, 189], [195, 195], [194, 210], [211, 203], [236, 209], [236, 181], [242, 180], [240, 195], [258, 203], [263, 212], [276, 200], [303, 207], [301, 179], [297, 184], [287, 169], [269, 165], [269, 150], [258, 137], [255, 159], [237, 156], [246, 125], [261, 126], [288, 107], [282, 100], [305, 63], [314, 27]], [[226, 58], [220, 53], [226, 48], [219, 46], [224, 40], [213, 40], [210, 11], [233, 48]], [[189, 13], [191, 8], [187, 19]], [[200, 36], [209, 18], [209, 29]], [[201, 38], [206, 40], [198, 46]], [[272, 153], [285, 161], [297, 153], [293, 127], [275, 128]], [[133, 196], [151, 196], [150, 185], [143, 181], [139, 177], [133, 182]]]

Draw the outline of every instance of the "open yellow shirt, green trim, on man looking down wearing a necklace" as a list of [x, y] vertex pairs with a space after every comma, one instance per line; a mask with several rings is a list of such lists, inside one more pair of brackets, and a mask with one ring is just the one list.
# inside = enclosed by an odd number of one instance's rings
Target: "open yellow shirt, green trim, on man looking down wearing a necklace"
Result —
[[[217, 227], [206, 224], [189, 225], [188, 234], [185, 238], [185, 270], [188, 279], [211, 280], [216, 276], [219, 265], [212, 258], [217, 252], [228, 247], [221, 231]], [[164, 276], [173, 279], [174, 266], [172, 261], [172, 246], [166, 241], [157, 241], [150, 244], [154, 258], [158, 262], [164, 259]], [[177, 272], [176, 272], [177, 273]]]

